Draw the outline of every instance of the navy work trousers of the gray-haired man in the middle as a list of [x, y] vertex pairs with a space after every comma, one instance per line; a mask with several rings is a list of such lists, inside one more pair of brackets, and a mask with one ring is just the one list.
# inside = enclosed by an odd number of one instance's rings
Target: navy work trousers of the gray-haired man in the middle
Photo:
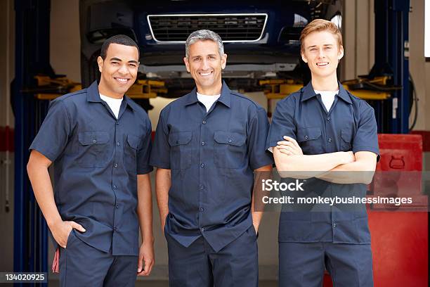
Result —
[[256, 287], [259, 262], [253, 226], [215, 252], [203, 236], [184, 247], [165, 234], [171, 287]]

